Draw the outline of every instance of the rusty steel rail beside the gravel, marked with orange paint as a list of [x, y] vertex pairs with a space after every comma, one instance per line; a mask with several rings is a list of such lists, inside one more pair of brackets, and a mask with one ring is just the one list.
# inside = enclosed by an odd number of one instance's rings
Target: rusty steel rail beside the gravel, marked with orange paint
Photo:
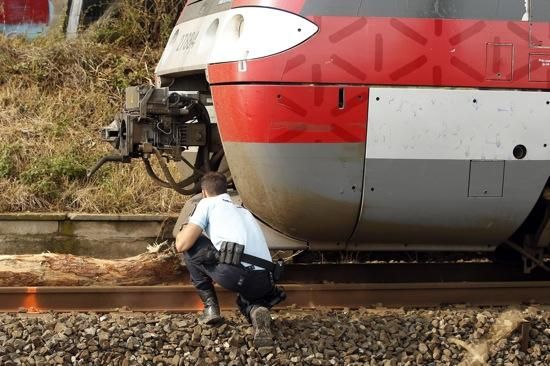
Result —
[[[359, 308], [373, 305], [426, 307], [450, 304], [550, 304], [550, 281], [371, 284], [290, 284], [283, 307]], [[222, 308], [235, 295], [219, 289]], [[197, 311], [195, 289], [183, 286], [0, 288], [1, 312]]]

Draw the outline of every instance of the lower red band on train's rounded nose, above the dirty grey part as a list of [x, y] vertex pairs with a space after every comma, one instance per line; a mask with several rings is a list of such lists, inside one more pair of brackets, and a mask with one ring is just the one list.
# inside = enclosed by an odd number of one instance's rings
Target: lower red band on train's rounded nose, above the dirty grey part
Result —
[[223, 141], [365, 142], [368, 88], [288, 85], [212, 87]]

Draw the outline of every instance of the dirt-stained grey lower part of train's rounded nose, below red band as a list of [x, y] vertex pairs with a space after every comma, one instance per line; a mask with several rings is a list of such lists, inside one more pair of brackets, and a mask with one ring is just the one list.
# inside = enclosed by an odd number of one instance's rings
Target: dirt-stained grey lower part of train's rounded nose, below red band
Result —
[[244, 205], [302, 240], [345, 242], [361, 206], [365, 145], [224, 143]]

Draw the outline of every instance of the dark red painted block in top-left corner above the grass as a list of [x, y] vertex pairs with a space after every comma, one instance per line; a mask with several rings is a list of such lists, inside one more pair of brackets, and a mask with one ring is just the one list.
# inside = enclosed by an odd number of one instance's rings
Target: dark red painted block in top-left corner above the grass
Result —
[[0, 23], [47, 24], [50, 20], [48, 0], [0, 0]]

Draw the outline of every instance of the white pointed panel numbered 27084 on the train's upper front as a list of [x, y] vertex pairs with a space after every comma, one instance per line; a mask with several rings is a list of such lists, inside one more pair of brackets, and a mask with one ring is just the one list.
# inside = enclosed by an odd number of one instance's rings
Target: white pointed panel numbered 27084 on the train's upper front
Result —
[[289, 50], [319, 28], [306, 18], [264, 7], [241, 7], [184, 21], [172, 31], [158, 75], [205, 70]]

